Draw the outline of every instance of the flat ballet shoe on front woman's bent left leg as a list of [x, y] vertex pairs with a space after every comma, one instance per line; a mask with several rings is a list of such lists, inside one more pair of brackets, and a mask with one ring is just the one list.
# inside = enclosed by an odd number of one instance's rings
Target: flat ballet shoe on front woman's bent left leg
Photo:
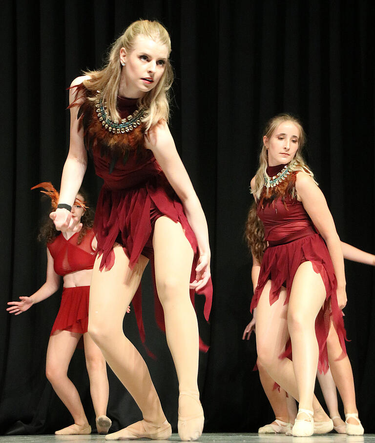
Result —
[[172, 428], [167, 420], [164, 423], [153, 423], [141, 420], [130, 424], [120, 431], [107, 434], [105, 440], [167, 440], [172, 434]]

